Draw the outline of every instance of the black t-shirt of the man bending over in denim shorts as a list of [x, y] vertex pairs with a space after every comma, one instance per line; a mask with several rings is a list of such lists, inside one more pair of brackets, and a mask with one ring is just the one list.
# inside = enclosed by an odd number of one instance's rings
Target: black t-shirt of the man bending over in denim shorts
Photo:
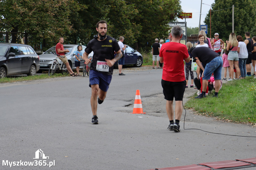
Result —
[[215, 57], [220, 56], [215, 51], [211, 50], [209, 47], [197, 47], [192, 51], [192, 56], [194, 58], [193, 62], [196, 62], [195, 57], [198, 57], [200, 62], [206, 65]]

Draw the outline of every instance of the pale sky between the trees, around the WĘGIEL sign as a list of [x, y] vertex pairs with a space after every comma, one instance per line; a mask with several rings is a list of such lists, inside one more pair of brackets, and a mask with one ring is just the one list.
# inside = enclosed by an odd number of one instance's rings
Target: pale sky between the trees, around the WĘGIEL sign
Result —
[[[187, 18], [187, 27], [195, 28], [199, 26], [199, 18], [200, 18], [200, 7], [201, 7], [201, 0], [180, 0], [180, 5], [184, 13], [192, 13], [192, 18]], [[191, 3], [193, 2], [193, 3]], [[204, 25], [204, 20], [206, 14], [210, 10], [210, 6], [214, 3], [215, 0], [202, 0], [202, 11], [201, 11], [201, 21], [200, 25]], [[207, 4], [207, 5], [205, 5]], [[185, 19], [178, 19], [178, 22], [185, 22]], [[208, 26], [210, 27], [210, 26]]]

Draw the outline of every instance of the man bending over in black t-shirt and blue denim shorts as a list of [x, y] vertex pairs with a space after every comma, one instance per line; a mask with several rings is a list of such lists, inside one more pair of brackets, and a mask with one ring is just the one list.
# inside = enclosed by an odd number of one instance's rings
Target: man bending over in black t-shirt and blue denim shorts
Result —
[[[195, 98], [201, 99], [206, 97], [206, 88], [212, 73], [214, 73], [215, 80], [215, 94], [213, 97], [217, 97], [220, 90], [221, 70], [223, 65], [222, 57], [208, 47], [194, 48], [191, 53], [194, 58], [193, 62], [196, 62], [196, 64], [203, 70], [202, 93]], [[201, 63], [205, 65], [205, 68]]]

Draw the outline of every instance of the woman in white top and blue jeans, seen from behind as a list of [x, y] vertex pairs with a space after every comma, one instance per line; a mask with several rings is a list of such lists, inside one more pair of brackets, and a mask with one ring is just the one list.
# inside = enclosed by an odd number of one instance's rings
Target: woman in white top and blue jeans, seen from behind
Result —
[[237, 35], [237, 41], [238, 64], [241, 72], [241, 79], [243, 79], [246, 76], [246, 60], [248, 58], [248, 52], [246, 44], [243, 42], [243, 38], [241, 35]]

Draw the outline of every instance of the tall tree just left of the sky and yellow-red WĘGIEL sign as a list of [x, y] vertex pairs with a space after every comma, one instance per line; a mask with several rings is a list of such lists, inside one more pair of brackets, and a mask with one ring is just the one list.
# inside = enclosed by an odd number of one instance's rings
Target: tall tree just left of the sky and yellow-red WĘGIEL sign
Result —
[[132, 22], [142, 26], [137, 37], [138, 47], [147, 47], [147, 50], [151, 49], [155, 38], [168, 37], [168, 22], [174, 21], [177, 14], [182, 12], [178, 0], [130, 0], [129, 2], [126, 4], [135, 4], [134, 8], [138, 10], [138, 15]]

